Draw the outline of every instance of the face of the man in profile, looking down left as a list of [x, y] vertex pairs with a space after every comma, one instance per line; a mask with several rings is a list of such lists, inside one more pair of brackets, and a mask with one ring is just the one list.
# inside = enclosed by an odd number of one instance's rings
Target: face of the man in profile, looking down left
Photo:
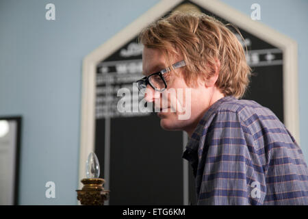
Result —
[[[182, 60], [182, 57], [174, 57], [171, 64]], [[164, 55], [159, 49], [144, 47], [142, 69], [145, 76], [167, 67]], [[211, 89], [200, 80], [193, 88], [188, 87], [181, 74], [183, 70], [185, 67], [164, 74], [167, 83], [167, 89], [164, 92], [156, 91], [148, 84], [145, 99], [147, 102], [153, 102], [155, 112], [160, 111], [157, 116], [161, 119], [160, 125], [163, 129], [184, 130], [191, 133], [209, 107]]]

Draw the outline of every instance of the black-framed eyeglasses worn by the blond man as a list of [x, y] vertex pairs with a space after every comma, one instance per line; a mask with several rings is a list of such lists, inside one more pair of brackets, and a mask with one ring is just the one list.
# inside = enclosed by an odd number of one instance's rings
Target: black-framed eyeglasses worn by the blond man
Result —
[[[185, 66], [185, 61], [177, 62], [172, 64], [173, 69], [181, 68]], [[163, 92], [167, 88], [166, 80], [164, 79], [163, 75], [170, 72], [170, 67], [164, 68], [157, 73], [153, 73], [147, 77], [142, 77], [142, 79], [136, 81], [137, 87], [142, 94], [144, 94], [146, 86], [149, 84], [154, 90], [159, 92]]]

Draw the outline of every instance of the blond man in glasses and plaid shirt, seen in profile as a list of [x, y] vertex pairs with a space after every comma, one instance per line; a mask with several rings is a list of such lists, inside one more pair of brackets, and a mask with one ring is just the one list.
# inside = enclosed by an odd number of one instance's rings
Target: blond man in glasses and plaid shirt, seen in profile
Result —
[[239, 100], [251, 69], [225, 25], [175, 12], [146, 27], [140, 42], [138, 87], [160, 111], [163, 129], [190, 136], [183, 158], [194, 170], [198, 205], [308, 204], [300, 147], [268, 108]]

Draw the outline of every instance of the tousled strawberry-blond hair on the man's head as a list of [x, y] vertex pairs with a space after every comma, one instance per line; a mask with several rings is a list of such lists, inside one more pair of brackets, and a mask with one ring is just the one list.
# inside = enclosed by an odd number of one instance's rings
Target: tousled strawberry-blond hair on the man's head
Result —
[[161, 50], [168, 66], [172, 55], [182, 55], [186, 62], [182, 74], [188, 86], [198, 78], [209, 79], [219, 60], [216, 87], [224, 96], [241, 98], [248, 87], [251, 68], [242, 44], [227, 25], [211, 16], [173, 12], [143, 29], [139, 41], [145, 47]]

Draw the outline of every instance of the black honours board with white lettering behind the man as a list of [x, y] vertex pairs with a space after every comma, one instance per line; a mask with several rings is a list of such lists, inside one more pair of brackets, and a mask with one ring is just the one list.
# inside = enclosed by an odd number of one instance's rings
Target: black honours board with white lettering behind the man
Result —
[[[196, 3], [183, 1], [179, 5], [187, 3], [229, 23]], [[235, 32], [232, 27], [231, 30]], [[240, 32], [244, 37], [240, 41], [248, 47], [246, 60], [254, 73], [244, 99], [270, 108], [283, 122], [283, 53], [244, 29]], [[182, 205], [183, 133], [162, 130], [159, 118], [153, 113], [124, 114], [117, 110], [121, 98], [117, 91], [127, 88], [133, 92], [133, 81], [142, 77], [142, 45], [138, 44], [137, 36], [97, 64], [95, 153], [104, 173], [107, 137], [110, 140], [110, 156], [107, 156], [110, 205]], [[196, 194], [191, 168], [188, 177], [189, 203], [194, 205]]]

